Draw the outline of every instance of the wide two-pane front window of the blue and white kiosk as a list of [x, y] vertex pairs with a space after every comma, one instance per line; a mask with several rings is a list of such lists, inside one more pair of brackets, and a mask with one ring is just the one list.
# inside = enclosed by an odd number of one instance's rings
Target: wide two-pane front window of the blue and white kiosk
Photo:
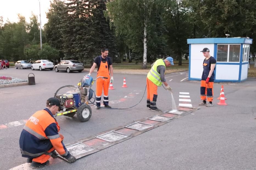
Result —
[[239, 62], [240, 45], [239, 44], [218, 44], [217, 61], [219, 62]]

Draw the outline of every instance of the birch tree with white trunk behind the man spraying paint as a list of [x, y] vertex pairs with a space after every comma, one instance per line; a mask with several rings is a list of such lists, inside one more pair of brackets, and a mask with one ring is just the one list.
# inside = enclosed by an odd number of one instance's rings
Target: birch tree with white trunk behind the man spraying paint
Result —
[[142, 55], [143, 51], [142, 68], [146, 69], [148, 50], [148, 57], [151, 57], [163, 52], [165, 46], [165, 29], [161, 25], [164, 1], [114, 0], [107, 3], [107, 8], [116, 34], [125, 37], [125, 43], [134, 54]]

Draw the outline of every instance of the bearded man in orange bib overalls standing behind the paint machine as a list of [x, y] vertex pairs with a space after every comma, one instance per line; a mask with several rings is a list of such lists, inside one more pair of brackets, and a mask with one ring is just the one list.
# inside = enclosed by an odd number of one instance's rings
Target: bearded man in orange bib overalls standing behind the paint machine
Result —
[[[111, 108], [108, 105], [108, 87], [109, 87], [109, 82], [113, 83], [114, 79], [113, 79], [112, 60], [110, 57], [108, 57], [107, 48], [101, 49], [101, 55], [95, 58], [94, 63], [88, 75], [91, 75], [96, 65], [98, 67], [97, 77], [99, 76], [108, 77], [108, 79], [104, 79], [104, 80], [102, 78], [98, 78], [96, 81], [96, 105], [97, 105], [96, 109], [100, 109], [102, 89], [104, 91], [103, 104], [105, 105], [106, 108]], [[109, 75], [109, 70], [110, 70], [111, 78]]]

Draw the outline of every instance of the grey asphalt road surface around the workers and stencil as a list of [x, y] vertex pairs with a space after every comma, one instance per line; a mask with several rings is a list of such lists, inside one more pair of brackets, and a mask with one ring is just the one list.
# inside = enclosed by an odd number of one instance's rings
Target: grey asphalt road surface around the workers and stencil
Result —
[[[9, 68], [2, 70], [0, 75], [27, 78], [30, 72], [35, 74], [36, 85], [0, 89], [0, 165], [3, 170], [26, 169], [26, 158], [21, 157], [19, 149], [19, 136], [25, 121], [37, 110], [44, 109], [46, 100], [59, 87], [76, 85], [87, 74]], [[93, 73], [92, 77], [95, 76]], [[128, 88], [121, 87], [123, 77]], [[180, 92], [185, 92], [189, 93], [190, 104], [199, 107], [199, 81], [188, 81], [188, 72], [165, 77], [173, 89], [176, 105], [182, 103]], [[72, 164], [60, 158], [50, 159], [50, 165], [44, 169], [256, 169], [256, 81], [223, 83], [228, 105], [216, 104], [221, 85], [214, 84], [213, 107], [201, 106], [193, 114], [82, 157]], [[145, 86], [146, 75], [114, 74], [115, 90], [109, 90], [109, 105], [124, 108], [137, 104]], [[95, 90], [95, 85], [92, 88]], [[157, 107], [162, 110], [172, 108], [171, 95], [163, 87], [158, 89]], [[59, 116], [57, 121], [64, 143], [68, 144], [155, 114], [146, 108], [145, 93], [142, 101], [131, 109], [96, 110], [92, 106], [92, 117], [88, 122], [80, 122], [76, 115], [73, 120]]]

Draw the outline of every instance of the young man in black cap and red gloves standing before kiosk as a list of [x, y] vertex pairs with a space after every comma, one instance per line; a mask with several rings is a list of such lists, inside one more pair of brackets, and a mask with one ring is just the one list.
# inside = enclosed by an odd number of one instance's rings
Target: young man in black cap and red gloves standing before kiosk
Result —
[[[199, 105], [206, 105], [206, 107], [211, 107], [213, 106], [212, 101], [213, 101], [213, 81], [215, 78], [214, 75], [214, 70], [215, 70], [215, 65], [216, 65], [216, 60], [214, 57], [210, 55], [210, 50], [208, 48], [204, 48], [201, 51], [206, 57], [203, 62], [203, 74], [202, 74], [202, 80], [201, 80], [201, 100], [203, 100], [202, 103]], [[208, 104], [206, 104], [206, 99], [209, 101]]]

